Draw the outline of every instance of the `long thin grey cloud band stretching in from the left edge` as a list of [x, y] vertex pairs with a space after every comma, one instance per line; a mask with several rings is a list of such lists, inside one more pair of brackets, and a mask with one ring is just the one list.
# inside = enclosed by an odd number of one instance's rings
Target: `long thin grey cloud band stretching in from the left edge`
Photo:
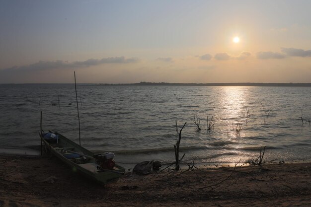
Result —
[[101, 64], [129, 64], [136, 63], [139, 59], [137, 58], [124, 58], [124, 57], [111, 57], [103, 59], [88, 59], [86, 61], [39, 61], [37, 63], [12, 67], [8, 69], [1, 69], [0, 71], [38, 71], [38, 70], [48, 70], [48, 69], [75, 69], [90, 66], [97, 66]]

